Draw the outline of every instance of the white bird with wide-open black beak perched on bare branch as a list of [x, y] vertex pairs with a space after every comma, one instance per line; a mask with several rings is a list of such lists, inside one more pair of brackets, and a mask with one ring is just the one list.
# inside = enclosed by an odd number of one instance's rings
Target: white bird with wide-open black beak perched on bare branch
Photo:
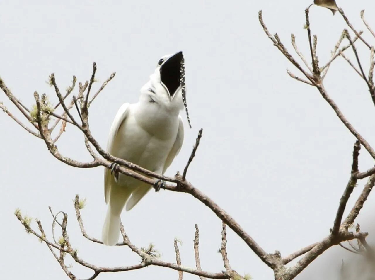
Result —
[[[180, 110], [186, 109], [184, 57], [182, 52], [160, 58], [150, 80], [141, 88], [139, 101], [118, 110], [108, 137], [107, 152], [134, 164], [164, 174], [181, 149], [184, 127]], [[190, 126], [191, 127], [191, 126]], [[108, 203], [102, 241], [115, 245], [120, 235], [120, 214], [132, 209], [151, 185], [105, 169], [104, 197]], [[165, 182], [155, 180], [154, 187]]]

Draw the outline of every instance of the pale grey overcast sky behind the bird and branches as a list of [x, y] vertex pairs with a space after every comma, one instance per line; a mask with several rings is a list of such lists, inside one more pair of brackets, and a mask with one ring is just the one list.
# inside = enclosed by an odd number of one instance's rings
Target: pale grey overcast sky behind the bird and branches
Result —
[[[120, 5], [119, 1], [33, 1], [30, 5], [27, 1], [2, 1], [0, 75], [31, 107], [34, 90], [54, 96], [45, 83], [52, 72], [64, 90], [72, 75], [79, 81], [88, 79], [93, 61], [98, 64], [99, 82], [116, 71], [114, 80], [91, 107], [92, 133], [105, 147], [120, 105], [138, 100], [139, 89], [159, 57], [182, 50], [193, 128], [187, 128], [183, 115], [184, 145], [166, 174], [183, 170], [198, 129], [204, 128], [188, 179], [231, 214], [266, 251], [280, 250], [286, 255], [329, 233], [350, 175], [355, 141], [316, 89], [287, 75], [286, 68], [299, 73], [258, 23], [258, 10], [263, 9], [270, 32], [278, 32], [290, 50], [293, 32], [300, 49], [308, 54], [303, 25], [304, 9], [311, 2], [138, 1]], [[365, 29], [360, 21], [362, 9], [375, 26], [371, 17], [374, 2], [338, 1], [338, 5], [358, 29]], [[332, 17], [330, 11], [312, 7], [311, 25], [318, 35], [319, 59], [326, 62], [345, 23], [339, 14]], [[367, 31], [364, 36], [370, 38]], [[363, 59], [368, 60], [367, 53]], [[339, 58], [325, 85], [348, 119], [375, 145], [374, 105], [359, 76]], [[5, 95], [0, 95], [0, 101], [16, 111]], [[3, 113], [0, 128], [0, 263], [4, 278], [67, 278], [48, 248], [25, 233], [13, 215], [17, 207], [38, 217], [48, 232], [48, 205], [54, 211], [67, 212], [71, 241], [89, 262], [102, 266], [139, 262], [129, 249], [92, 244], [79, 232], [72, 207], [75, 194], [87, 196], [82, 212], [87, 232], [101, 235], [107, 209], [102, 168], [75, 169], [58, 162], [41, 140]], [[90, 160], [82, 135], [70, 126], [58, 147], [69, 157]], [[360, 169], [372, 164], [363, 149]], [[356, 188], [349, 205], [359, 193], [360, 188]], [[374, 202], [372, 195], [358, 218], [363, 230], [372, 229], [369, 240], [375, 235]], [[175, 260], [173, 239], [181, 239], [181, 259], [186, 266], [194, 266], [192, 240], [194, 224], [198, 223], [202, 268], [223, 269], [217, 253], [221, 222], [188, 194], [150, 192], [132, 211], [124, 212], [122, 220], [135, 245], [153, 242], [164, 260]], [[231, 230], [228, 257], [240, 273], [247, 272], [257, 280], [273, 278], [272, 271]], [[338, 271], [341, 258], [346, 257], [341, 248], [332, 248], [298, 279], [326, 278]], [[73, 271], [80, 278], [91, 275], [76, 264]], [[177, 279], [177, 272], [149, 267], [101, 274], [98, 279], [123, 277]], [[184, 275], [184, 279], [196, 278]]]

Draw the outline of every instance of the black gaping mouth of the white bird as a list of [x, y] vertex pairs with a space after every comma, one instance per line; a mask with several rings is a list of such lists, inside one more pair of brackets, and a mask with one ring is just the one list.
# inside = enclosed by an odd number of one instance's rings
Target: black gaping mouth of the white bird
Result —
[[169, 96], [172, 97], [181, 85], [181, 62], [183, 61], [182, 51], [171, 56], [160, 67], [160, 79], [162, 84], [168, 89]]

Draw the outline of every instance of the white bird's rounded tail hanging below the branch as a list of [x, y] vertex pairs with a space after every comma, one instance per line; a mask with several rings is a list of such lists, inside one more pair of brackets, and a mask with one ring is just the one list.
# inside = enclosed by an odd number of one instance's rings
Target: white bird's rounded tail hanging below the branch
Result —
[[118, 238], [120, 237], [120, 223], [120, 215], [114, 214], [108, 205], [102, 230], [102, 241], [105, 245], [113, 246], [118, 242]]

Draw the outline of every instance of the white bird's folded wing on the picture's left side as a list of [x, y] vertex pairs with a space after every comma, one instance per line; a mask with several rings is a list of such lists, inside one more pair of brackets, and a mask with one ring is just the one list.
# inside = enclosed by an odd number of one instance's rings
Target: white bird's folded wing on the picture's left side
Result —
[[[129, 103], [124, 103], [123, 105], [121, 105], [111, 125], [110, 135], [108, 136], [108, 143], [107, 143], [107, 152], [110, 154], [112, 153], [112, 149], [113, 149], [115, 138], [118, 132], [118, 128], [120, 128], [121, 124], [124, 122], [129, 112], [129, 110], [127, 110], [128, 108], [129, 108]], [[114, 176], [111, 175], [111, 171], [108, 168], [105, 168], [104, 170], [105, 203], [108, 203], [110, 199], [111, 185], [114, 184], [114, 182], [115, 182]]]

